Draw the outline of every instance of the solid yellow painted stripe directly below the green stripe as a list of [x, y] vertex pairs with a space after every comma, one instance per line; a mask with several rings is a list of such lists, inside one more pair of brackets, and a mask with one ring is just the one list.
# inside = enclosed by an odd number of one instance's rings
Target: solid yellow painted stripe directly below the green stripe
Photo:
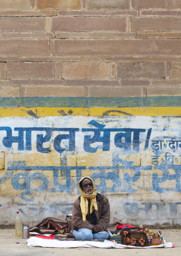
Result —
[[0, 117], [47, 116], [181, 116], [181, 107], [148, 108], [0, 108]]

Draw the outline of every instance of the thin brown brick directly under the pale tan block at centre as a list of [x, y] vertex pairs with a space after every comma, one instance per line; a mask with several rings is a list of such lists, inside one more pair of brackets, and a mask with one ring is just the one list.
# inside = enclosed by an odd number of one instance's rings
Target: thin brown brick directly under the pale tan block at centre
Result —
[[73, 85], [73, 86], [119, 86], [118, 80], [88, 80], [88, 79], [82, 79], [82, 80], [65, 80], [65, 85]]

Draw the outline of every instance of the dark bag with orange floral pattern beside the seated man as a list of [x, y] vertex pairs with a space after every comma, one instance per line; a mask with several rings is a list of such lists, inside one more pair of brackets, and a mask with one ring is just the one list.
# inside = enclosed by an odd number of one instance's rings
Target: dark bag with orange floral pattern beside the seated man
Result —
[[133, 246], [149, 246], [145, 229], [123, 229], [120, 231], [121, 244]]

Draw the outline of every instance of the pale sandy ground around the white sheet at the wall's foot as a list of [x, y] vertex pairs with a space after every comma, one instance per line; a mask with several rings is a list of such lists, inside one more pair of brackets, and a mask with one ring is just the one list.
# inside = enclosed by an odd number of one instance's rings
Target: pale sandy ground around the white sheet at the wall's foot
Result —
[[[155, 230], [159, 231], [159, 230]], [[156, 249], [102, 249], [102, 248], [42, 248], [42, 247], [27, 247], [26, 240], [15, 236], [14, 229], [0, 230], [0, 255], [13, 256], [77, 256], [80, 254], [99, 255], [99, 256], [117, 256], [124, 255], [139, 255], [139, 256], [181, 256], [181, 229], [161, 230], [162, 236], [167, 242], [172, 242], [175, 248], [156, 248]], [[16, 244], [15, 241], [19, 242]], [[136, 256], [135, 255], [135, 256]]]

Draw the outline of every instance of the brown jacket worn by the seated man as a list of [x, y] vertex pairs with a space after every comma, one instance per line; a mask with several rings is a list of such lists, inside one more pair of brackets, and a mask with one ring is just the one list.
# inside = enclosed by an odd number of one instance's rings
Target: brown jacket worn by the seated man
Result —
[[[108, 232], [108, 225], [110, 220], [110, 205], [107, 197], [103, 194], [97, 193], [96, 196], [97, 200], [97, 207], [98, 210], [95, 211], [95, 215], [97, 217], [97, 223], [102, 226], [104, 231]], [[92, 222], [91, 217], [89, 214], [86, 216], [86, 221], [82, 220], [82, 213], [81, 213], [81, 200], [80, 196], [76, 199], [72, 207], [72, 231], [74, 229], [90, 229], [92, 230], [93, 225], [90, 223]]]

